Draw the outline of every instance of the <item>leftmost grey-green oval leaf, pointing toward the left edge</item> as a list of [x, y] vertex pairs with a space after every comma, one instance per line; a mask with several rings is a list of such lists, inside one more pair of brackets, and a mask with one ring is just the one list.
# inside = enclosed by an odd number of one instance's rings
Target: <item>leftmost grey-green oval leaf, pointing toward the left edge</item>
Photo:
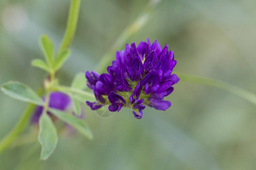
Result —
[[1, 86], [1, 90], [14, 99], [34, 103], [36, 105], [43, 105], [42, 99], [36, 94], [32, 88], [20, 82], [7, 82]]

